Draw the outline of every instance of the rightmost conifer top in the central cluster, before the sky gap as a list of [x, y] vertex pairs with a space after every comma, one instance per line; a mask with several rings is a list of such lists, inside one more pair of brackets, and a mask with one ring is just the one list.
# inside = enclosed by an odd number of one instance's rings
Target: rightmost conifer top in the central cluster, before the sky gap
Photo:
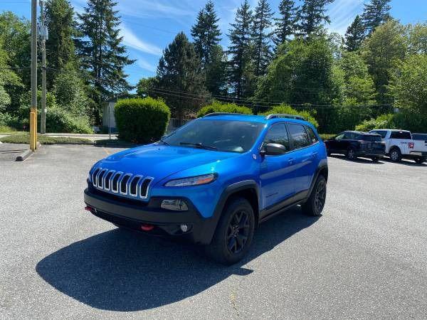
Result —
[[299, 36], [310, 36], [317, 33], [323, 23], [330, 23], [330, 17], [325, 14], [325, 6], [334, 0], [304, 0], [302, 8], [298, 12], [300, 23], [298, 25]]

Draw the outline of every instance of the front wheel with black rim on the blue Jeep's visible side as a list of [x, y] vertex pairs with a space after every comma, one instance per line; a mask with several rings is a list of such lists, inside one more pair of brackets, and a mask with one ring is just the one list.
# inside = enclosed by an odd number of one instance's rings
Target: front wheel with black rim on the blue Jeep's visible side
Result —
[[255, 214], [245, 198], [232, 198], [223, 208], [214, 238], [206, 246], [206, 254], [223, 265], [242, 260], [251, 247], [255, 230]]

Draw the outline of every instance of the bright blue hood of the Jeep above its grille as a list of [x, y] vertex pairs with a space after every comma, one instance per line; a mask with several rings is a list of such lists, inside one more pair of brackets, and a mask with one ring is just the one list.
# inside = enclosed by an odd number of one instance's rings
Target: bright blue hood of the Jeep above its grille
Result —
[[112, 154], [101, 160], [97, 167], [151, 176], [159, 181], [179, 171], [240, 155], [235, 152], [149, 144]]

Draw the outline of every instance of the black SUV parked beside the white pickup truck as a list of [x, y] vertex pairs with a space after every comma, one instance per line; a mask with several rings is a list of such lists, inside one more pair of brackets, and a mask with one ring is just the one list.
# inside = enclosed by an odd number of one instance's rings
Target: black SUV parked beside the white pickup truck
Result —
[[332, 139], [325, 141], [327, 154], [345, 154], [347, 159], [354, 160], [358, 156], [378, 161], [385, 154], [385, 144], [379, 134], [367, 134], [359, 131], [344, 131]]

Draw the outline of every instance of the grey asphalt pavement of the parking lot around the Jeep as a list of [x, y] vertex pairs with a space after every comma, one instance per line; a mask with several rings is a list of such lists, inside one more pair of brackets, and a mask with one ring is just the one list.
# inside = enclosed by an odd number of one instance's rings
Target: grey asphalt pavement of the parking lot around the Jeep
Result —
[[90, 166], [119, 150], [0, 159], [0, 318], [427, 317], [427, 165], [332, 157], [322, 217], [268, 220], [223, 267], [83, 210]]

